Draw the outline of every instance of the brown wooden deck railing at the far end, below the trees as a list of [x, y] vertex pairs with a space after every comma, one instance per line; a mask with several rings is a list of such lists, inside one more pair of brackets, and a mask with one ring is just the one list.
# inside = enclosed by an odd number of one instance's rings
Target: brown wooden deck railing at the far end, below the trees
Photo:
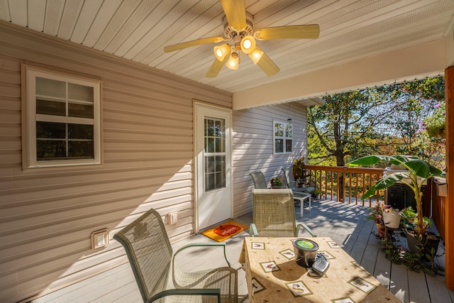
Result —
[[309, 186], [316, 187], [326, 199], [372, 206], [372, 201], [379, 199], [386, 202], [384, 190], [377, 191], [375, 197], [361, 200], [362, 194], [380, 180], [382, 168], [339, 167], [305, 165], [309, 173]]

